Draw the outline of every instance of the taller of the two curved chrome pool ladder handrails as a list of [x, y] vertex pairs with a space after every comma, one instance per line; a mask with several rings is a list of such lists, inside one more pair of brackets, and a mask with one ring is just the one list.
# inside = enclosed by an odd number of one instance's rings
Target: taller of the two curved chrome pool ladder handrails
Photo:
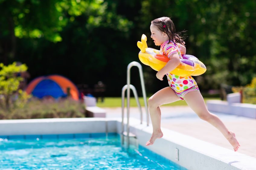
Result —
[[[143, 94], [143, 99], [144, 99], [144, 105], [146, 109], [146, 117], [147, 117], [147, 126], [149, 126], [149, 113], [148, 113], [148, 104], [147, 104], [147, 97], [146, 97], [146, 90], [145, 90], [145, 83], [144, 83], [144, 78], [143, 78], [143, 72], [142, 72], [142, 66], [140, 63], [133, 61], [127, 66], [127, 146], [129, 147], [129, 134], [130, 134], [130, 127], [129, 127], [129, 117], [130, 117], [130, 70], [133, 66], [137, 66], [139, 69], [139, 77], [140, 77], [140, 83], [141, 83], [141, 88], [142, 88], [142, 94]], [[123, 99], [122, 99], [123, 100]], [[122, 102], [123, 103], [123, 102]], [[123, 110], [122, 106], [122, 110]], [[123, 116], [123, 113], [122, 113]], [[141, 117], [142, 121], [142, 117]], [[122, 128], [123, 128], [123, 120], [122, 120]], [[123, 133], [123, 131], [122, 131]], [[122, 134], [123, 135], [123, 134]], [[123, 139], [123, 137], [122, 137]], [[122, 141], [123, 143], [123, 141]]]

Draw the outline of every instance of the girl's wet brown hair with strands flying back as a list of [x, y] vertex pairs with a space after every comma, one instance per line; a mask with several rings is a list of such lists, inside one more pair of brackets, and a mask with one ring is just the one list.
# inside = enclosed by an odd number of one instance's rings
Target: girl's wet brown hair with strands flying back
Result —
[[[172, 20], [169, 17], [161, 17], [161, 18], [157, 18], [155, 20], [151, 21], [151, 24], [154, 24], [155, 26], [157, 26], [158, 30], [161, 32], [165, 32], [169, 38], [169, 42], [178, 42], [182, 45], [185, 44], [185, 42], [182, 40], [183, 38], [180, 36], [181, 32], [177, 32], [175, 30], [175, 26], [174, 23], [172, 22]], [[185, 31], [182, 31], [185, 32]]]

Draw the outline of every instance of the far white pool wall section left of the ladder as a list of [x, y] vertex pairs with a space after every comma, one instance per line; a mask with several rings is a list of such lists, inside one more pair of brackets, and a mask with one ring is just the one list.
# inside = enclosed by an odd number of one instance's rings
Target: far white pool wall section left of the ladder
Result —
[[117, 132], [116, 122], [106, 118], [0, 120], [0, 136]]

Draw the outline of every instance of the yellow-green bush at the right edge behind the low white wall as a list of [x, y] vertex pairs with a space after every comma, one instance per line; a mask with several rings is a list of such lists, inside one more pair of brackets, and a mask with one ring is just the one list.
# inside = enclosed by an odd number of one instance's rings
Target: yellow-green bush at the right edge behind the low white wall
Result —
[[233, 87], [233, 92], [242, 92], [242, 102], [256, 104], [256, 77], [245, 87]]

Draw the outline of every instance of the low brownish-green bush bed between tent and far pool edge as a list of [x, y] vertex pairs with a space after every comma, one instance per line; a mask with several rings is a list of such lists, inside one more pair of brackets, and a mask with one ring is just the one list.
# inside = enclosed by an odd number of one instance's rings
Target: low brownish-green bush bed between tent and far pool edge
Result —
[[0, 119], [41, 119], [85, 117], [85, 105], [72, 99], [32, 99], [23, 108], [0, 109]]

